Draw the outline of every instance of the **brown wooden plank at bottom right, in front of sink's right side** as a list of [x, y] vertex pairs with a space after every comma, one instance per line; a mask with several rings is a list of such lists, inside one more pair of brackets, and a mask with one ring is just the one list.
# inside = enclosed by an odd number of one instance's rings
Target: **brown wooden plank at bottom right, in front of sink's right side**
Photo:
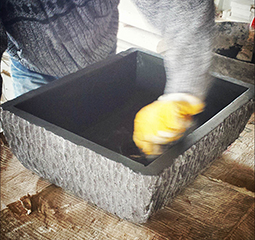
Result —
[[[254, 197], [200, 175], [145, 226], [170, 239], [224, 239], [241, 219], [247, 224], [253, 204]], [[253, 233], [254, 225], [247, 236]]]

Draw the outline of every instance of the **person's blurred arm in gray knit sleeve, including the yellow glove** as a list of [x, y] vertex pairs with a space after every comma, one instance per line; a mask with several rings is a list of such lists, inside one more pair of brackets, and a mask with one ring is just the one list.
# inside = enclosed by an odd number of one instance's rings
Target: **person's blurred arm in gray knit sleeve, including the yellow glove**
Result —
[[161, 31], [168, 47], [164, 95], [141, 109], [134, 122], [137, 147], [146, 155], [159, 155], [161, 146], [184, 136], [192, 116], [204, 109], [211, 84], [214, 1], [133, 1]]

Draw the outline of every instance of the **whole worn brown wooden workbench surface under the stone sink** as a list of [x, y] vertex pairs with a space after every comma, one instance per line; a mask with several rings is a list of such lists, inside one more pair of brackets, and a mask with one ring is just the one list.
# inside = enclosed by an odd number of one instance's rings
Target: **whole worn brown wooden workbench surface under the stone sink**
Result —
[[25, 169], [1, 137], [0, 239], [254, 239], [254, 114], [240, 137], [146, 224]]

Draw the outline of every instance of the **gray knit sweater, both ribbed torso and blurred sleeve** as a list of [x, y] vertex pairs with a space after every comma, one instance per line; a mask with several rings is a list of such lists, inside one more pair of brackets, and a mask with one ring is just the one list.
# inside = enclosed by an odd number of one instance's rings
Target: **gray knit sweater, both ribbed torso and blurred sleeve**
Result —
[[[214, 26], [213, 0], [134, 0], [165, 37], [166, 93], [203, 98]], [[119, 0], [1, 0], [0, 54], [32, 71], [62, 77], [116, 48]]]

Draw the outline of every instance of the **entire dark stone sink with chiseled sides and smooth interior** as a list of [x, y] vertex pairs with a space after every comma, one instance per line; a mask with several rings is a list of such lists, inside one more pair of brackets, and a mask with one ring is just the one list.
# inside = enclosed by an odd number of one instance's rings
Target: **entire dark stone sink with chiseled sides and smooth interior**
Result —
[[163, 93], [163, 59], [130, 49], [0, 108], [6, 140], [29, 170], [120, 218], [144, 223], [244, 129], [253, 85], [214, 75], [196, 129], [148, 160], [132, 141], [136, 112]]

